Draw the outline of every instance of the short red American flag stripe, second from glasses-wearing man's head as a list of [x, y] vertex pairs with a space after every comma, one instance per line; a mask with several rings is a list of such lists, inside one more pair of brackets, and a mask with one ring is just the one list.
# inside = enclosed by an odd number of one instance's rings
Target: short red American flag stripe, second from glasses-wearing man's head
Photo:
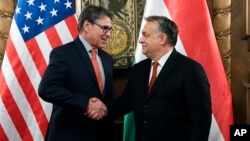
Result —
[[47, 38], [51, 44], [52, 48], [58, 47], [59, 45], [62, 45], [62, 41], [58, 35], [58, 32], [56, 31], [56, 28], [52, 26], [48, 30], [45, 31], [45, 34], [47, 35]]

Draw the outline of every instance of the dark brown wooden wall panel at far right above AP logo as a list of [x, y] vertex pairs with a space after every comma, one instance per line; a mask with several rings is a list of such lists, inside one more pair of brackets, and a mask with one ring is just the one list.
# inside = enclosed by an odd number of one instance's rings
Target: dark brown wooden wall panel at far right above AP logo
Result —
[[[243, 2], [232, 0], [232, 79], [231, 89], [233, 94], [234, 118], [236, 123], [246, 123], [246, 91], [243, 84], [249, 82], [250, 50], [249, 42], [243, 39]], [[250, 8], [250, 7], [249, 7]]]

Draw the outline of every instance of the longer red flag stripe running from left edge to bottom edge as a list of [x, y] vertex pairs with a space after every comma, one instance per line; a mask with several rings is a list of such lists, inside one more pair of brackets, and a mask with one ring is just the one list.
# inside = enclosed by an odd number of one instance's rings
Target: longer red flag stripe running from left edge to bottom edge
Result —
[[[2, 73], [1, 73], [0, 81], [5, 82], [5, 83], [2, 83], [3, 85], [1, 86], [2, 87], [1, 92], [4, 93], [4, 95], [2, 95], [3, 104], [6, 107], [6, 110], [9, 114], [12, 122], [14, 123], [14, 126], [16, 127], [18, 134], [20, 135], [22, 140], [33, 140], [32, 135], [31, 135], [30, 131], [28, 130], [28, 125], [26, 124], [26, 122], [21, 114], [21, 111], [19, 110], [19, 108], [16, 104], [16, 101], [14, 100], [8, 86], [6, 85], [6, 81], [5, 81], [4, 77], [2, 76]], [[2, 133], [2, 131], [0, 131], [0, 132], [1, 132], [0, 137], [2, 140], [2, 138], [3, 138], [2, 135], [4, 135], [5, 133], [4, 132]]]

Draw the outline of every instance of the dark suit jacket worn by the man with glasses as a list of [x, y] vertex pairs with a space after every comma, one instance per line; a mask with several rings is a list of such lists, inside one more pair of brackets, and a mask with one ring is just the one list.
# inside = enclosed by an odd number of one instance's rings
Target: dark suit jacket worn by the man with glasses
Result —
[[40, 82], [39, 96], [53, 103], [47, 141], [112, 141], [109, 120], [94, 121], [84, 116], [88, 99], [112, 98], [113, 59], [98, 50], [105, 73], [101, 95], [90, 57], [79, 38], [52, 50], [49, 65]]

